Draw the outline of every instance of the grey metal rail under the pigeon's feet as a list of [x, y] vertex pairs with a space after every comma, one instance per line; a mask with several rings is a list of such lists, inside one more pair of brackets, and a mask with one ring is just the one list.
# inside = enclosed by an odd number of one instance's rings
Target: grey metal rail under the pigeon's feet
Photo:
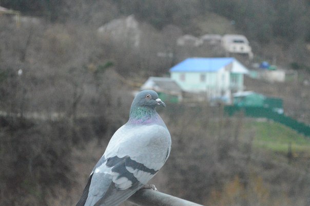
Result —
[[203, 206], [152, 189], [139, 190], [128, 201], [140, 206]]

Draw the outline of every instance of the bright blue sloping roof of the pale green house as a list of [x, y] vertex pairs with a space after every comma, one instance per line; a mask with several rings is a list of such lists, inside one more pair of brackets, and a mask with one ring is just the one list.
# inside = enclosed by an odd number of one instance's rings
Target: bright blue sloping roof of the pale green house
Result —
[[170, 72], [216, 72], [224, 66], [232, 63], [235, 58], [187, 58], [173, 66]]

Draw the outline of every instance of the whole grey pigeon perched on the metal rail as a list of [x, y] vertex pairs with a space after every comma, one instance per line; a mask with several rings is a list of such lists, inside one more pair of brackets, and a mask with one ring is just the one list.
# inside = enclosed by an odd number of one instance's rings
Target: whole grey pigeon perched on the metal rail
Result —
[[111, 137], [76, 206], [119, 205], [163, 167], [171, 136], [156, 106], [166, 107], [153, 90], [134, 97], [129, 120]]

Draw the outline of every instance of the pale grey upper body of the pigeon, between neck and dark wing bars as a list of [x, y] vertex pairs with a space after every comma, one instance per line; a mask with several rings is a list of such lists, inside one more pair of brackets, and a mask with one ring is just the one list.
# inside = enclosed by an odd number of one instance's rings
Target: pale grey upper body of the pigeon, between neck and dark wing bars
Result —
[[163, 166], [171, 150], [169, 131], [156, 124], [136, 127], [124, 125], [115, 132], [110, 143], [105, 156], [129, 156], [146, 168], [156, 171]]

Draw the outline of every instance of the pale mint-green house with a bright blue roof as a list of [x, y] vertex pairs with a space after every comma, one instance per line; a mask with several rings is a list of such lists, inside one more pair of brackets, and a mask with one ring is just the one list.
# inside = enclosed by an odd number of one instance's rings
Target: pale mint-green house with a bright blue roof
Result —
[[247, 68], [233, 57], [187, 58], [169, 71], [170, 78], [183, 91], [204, 93], [209, 100], [226, 102], [230, 102], [231, 93], [243, 91], [243, 75], [248, 73]]

